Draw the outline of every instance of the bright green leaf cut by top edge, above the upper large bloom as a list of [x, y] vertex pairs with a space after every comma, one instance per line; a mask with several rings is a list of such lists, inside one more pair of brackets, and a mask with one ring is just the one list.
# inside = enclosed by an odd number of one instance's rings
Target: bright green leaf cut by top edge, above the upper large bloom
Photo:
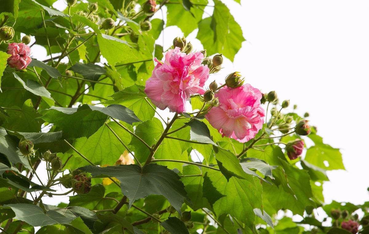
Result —
[[[194, 29], [197, 28], [197, 23], [202, 19], [203, 7], [207, 5], [207, 0], [195, 0], [196, 4], [204, 5], [197, 6], [191, 3], [191, 7], [188, 7], [189, 0], [174, 0], [170, 4], [167, 4], [168, 9], [166, 27], [177, 26], [179, 27], [184, 36], [188, 36]], [[187, 6], [187, 7], [186, 7]]]

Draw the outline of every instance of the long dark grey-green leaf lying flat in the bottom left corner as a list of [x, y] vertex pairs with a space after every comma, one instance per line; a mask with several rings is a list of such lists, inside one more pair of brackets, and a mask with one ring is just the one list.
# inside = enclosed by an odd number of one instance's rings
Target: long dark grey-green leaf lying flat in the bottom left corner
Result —
[[8, 204], [15, 213], [15, 219], [22, 220], [34, 227], [52, 224], [69, 224], [74, 217], [68, 217], [55, 210], [48, 210], [46, 213], [38, 206], [32, 204]]

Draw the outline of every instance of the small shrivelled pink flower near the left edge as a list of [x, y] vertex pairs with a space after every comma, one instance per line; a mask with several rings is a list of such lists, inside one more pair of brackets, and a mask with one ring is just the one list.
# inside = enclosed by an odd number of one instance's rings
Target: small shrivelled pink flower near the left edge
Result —
[[10, 67], [22, 70], [25, 69], [32, 61], [31, 49], [24, 43], [10, 43], [6, 52], [11, 55], [8, 58], [8, 64]]

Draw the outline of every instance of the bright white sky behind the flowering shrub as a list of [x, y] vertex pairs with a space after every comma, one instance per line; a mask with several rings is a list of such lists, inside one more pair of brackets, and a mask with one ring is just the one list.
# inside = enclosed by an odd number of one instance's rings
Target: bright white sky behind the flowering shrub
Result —
[[[341, 148], [346, 171], [328, 172], [324, 197], [355, 204], [369, 200], [369, 158], [364, 148], [367, 135], [369, 99], [369, 1], [365, 0], [223, 0], [241, 25], [246, 42], [232, 64], [209, 78], [223, 83], [232, 71], [241, 71], [246, 82], [263, 92], [275, 90], [279, 99], [297, 104], [300, 115], [308, 111], [310, 123], [318, 128], [324, 142]], [[209, 5], [213, 5], [210, 3]], [[66, 7], [58, 0], [54, 7]], [[212, 12], [207, 7], [206, 12]], [[165, 8], [163, 10], [165, 15]], [[162, 18], [159, 11], [155, 17]], [[194, 48], [202, 49], [189, 35]], [[165, 35], [163, 37], [163, 35]], [[164, 30], [158, 44], [168, 48], [175, 36], [182, 36], [177, 27]], [[163, 39], [164, 38], [164, 39]], [[35, 51], [38, 59], [46, 50]], [[68, 198], [44, 198], [58, 204]]]

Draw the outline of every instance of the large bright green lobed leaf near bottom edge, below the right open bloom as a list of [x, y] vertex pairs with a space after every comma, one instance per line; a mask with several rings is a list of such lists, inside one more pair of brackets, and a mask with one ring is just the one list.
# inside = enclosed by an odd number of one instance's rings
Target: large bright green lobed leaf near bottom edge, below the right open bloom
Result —
[[207, 176], [214, 188], [225, 195], [213, 204], [217, 216], [231, 214], [254, 229], [254, 209], [262, 209], [262, 187], [259, 179], [246, 175], [245, 179], [231, 177], [227, 181], [221, 172], [214, 170], [208, 170]]

